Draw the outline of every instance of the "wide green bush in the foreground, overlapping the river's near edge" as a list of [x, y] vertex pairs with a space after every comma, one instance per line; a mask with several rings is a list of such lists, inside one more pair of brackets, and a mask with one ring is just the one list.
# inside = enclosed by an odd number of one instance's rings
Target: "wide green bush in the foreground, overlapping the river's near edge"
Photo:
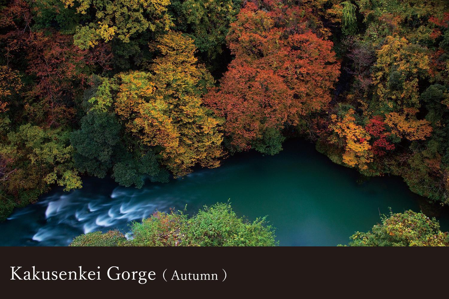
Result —
[[253, 222], [238, 217], [230, 204], [204, 206], [194, 217], [183, 212], [154, 212], [131, 224], [132, 238], [119, 231], [76, 237], [70, 246], [275, 246], [274, 228], [265, 217]]

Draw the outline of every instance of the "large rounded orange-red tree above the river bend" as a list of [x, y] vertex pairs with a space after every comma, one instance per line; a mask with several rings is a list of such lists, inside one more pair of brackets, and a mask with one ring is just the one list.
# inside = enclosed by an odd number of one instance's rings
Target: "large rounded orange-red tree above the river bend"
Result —
[[225, 117], [225, 133], [237, 151], [278, 152], [258, 143], [271, 143], [266, 139], [330, 101], [339, 75], [332, 43], [306, 30], [300, 16], [295, 7], [267, 12], [249, 2], [230, 26], [227, 41], [235, 58], [205, 103]]

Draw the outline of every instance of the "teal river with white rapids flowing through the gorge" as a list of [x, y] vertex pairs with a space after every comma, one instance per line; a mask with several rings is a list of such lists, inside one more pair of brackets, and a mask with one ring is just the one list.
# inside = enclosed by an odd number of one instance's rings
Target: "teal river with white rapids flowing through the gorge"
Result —
[[[36, 204], [17, 208], [0, 223], [0, 245], [66, 246], [83, 233], [119, 229], [170, 208], [192, 214], [229, 198], [238, 216], [250, 221], [268, 215], [282, 246], [346, 244], [355, 231], [379, 222], [379, 212], [420, 210], [424, 201], [397, 177], [357, 183], [359, 174], [332, 163], [313, 144], [291, 140], [275, 156], [247, 152], [216, 169], [196, 169], [170, 182], [143, 188], [118, 186], [112, 179], [84, 178], [83, 188], [54, 188]], [[438, 211], [448, 230], [448, 212]]]

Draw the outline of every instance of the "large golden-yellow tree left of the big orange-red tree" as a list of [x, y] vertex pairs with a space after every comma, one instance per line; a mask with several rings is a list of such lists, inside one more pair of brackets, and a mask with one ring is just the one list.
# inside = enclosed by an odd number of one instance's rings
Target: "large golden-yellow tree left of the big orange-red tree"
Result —
[[223, 156], [222, 120], [202, 105], [202, 94], [213, 84], [211, 74], [194, 56], [194, 41], [168, 32], [154, 46], [160, 56], [150, 72], [119, 75], [115, 112], [142, 143], [159, 147], [175, 176], [191, 167], [216, 167]]

